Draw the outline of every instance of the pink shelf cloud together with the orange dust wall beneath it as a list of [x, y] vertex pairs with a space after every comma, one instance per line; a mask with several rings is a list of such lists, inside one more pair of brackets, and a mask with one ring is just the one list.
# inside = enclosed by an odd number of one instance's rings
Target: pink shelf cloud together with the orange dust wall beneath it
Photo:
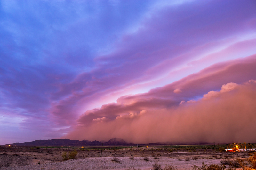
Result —
[[[78, 119], [76, 130], [64, 138], [119, 137], [135, 143], [211, 142], [213, 139], [237, 142], [245, 138], [252, 142], [256, 139], [246, 136], [245, 129], [255, 128], [253, 121], [247, 119], [256, 111], [255, 66], [253, 55], [214, 64], [148, 93], [122, 96], [117, 103], [86, 111]], [[176, 89], [182, 89], [182, 93], [174, 93]], [[93, 120], [103, 117], [108, 117], [108, 121], [95, 125]], [[208, 134], [209, 131], [213, 132]], [[169, 133], [172, 135], [163, 135]]]

